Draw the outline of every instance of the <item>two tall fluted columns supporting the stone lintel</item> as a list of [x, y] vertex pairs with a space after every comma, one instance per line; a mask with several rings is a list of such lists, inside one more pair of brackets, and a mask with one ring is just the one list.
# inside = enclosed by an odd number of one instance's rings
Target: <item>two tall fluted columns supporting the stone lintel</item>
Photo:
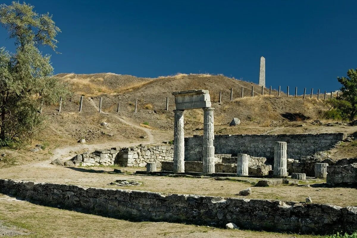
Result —
[[[215, 139], [212, 107], [203, 107], [203, 173], [215, 172]], [[185, 136], [183, 133], [183, 111], [174, 110], [174, 173], [185, 172]]]

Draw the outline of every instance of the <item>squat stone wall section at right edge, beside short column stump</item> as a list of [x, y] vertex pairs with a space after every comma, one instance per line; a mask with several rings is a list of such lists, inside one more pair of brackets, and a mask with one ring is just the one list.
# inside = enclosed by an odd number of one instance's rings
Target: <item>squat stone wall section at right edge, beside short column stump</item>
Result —
[[327, 166], [326, 182], [331, 184], [357, 183], [357, 163]]

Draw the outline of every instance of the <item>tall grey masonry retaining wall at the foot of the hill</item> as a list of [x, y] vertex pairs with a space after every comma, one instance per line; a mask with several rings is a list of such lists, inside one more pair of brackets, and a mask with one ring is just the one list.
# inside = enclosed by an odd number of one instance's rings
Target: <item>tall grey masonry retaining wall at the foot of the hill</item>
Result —
[[[346, 135], [343, 133], [296, 134], [296, 135], [215, 135], [214, 146], [216, 154], [245, 153], [255, 157], [274, 157], [273, 143], [287, 142], [287, 156], [301, 159], [318, 151], [332, 148]], [[202, 161], [202, 136], [185, 138], [185, 160]]]

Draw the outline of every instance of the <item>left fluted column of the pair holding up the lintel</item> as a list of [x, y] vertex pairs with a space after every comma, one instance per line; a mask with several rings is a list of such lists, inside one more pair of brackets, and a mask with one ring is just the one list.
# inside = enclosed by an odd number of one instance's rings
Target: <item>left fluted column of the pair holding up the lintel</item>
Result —
[[174, 110], [174, 173], [185, 172], [185, 136], [183, 133], [183, 111]]

